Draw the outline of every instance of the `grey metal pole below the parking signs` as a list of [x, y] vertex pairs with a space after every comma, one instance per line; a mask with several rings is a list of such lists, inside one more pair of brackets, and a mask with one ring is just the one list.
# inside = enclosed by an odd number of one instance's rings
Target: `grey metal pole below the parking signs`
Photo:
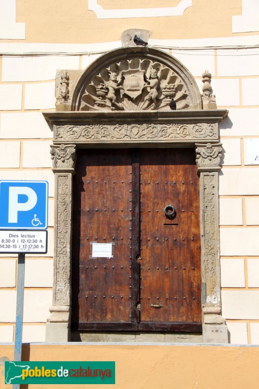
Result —
[[[17, 362], [21, 361], [22, 346], [22, 324], [23, 324], [23, 300], [24, 300], [24, 271], [25, 271], [25, 254], [18, 254], [18, 271], [17, 271], [17, 301], [16, 301], [16, 324], [15, 324], [15, 357]], [[14, 384], [13, 389], [19, 389], [20, 384]]]

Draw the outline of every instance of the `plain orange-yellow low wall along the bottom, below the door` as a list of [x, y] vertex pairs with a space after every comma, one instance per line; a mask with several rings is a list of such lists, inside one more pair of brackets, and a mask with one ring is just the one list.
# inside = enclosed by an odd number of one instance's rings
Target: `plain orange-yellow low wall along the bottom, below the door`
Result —
[[[115, 386], [98, 385], [98, 389], [258, 389], [259, 384], [259, 347], [27, 345], [22, 359], [49, 361], [50, 355], [53, 361], [115, 360]], [[2, 345], [2, 356], [13, 360], [13, 346]], [[69, 385], [48, 385], [52, 387], [66, 389]], [[83, 388], [73, 385], [77, 387]], [[2, 374], [0, 388], [11, 389], [3, 385]], [[91, 388], [96, 386], [87, 385]]]

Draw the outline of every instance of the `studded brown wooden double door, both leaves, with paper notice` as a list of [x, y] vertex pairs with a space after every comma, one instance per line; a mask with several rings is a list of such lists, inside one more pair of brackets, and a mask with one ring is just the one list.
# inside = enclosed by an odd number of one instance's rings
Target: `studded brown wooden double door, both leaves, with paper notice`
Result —
[[201, 332], [196, 170], [188, 148], [78, 150], [72, 330]]

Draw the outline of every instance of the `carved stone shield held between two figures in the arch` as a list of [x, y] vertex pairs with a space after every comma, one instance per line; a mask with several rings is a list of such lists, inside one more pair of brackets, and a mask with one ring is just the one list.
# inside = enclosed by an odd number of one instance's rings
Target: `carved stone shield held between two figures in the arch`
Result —
[[133, 100], [142, 93], [142, 89], [145, 85], [144, 73], [145, 71], [138, 69], [122, 71], [122, 75], [124, 76], [124, 93], [130, 96]]

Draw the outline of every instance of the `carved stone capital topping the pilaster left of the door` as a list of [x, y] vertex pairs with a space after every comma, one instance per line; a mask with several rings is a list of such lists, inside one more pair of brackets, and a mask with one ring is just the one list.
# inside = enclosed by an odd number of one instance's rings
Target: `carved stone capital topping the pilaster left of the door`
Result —
[[56, 169], [73, 169], [76, 146], [74, 144], [51, 145], [51, 159]]

